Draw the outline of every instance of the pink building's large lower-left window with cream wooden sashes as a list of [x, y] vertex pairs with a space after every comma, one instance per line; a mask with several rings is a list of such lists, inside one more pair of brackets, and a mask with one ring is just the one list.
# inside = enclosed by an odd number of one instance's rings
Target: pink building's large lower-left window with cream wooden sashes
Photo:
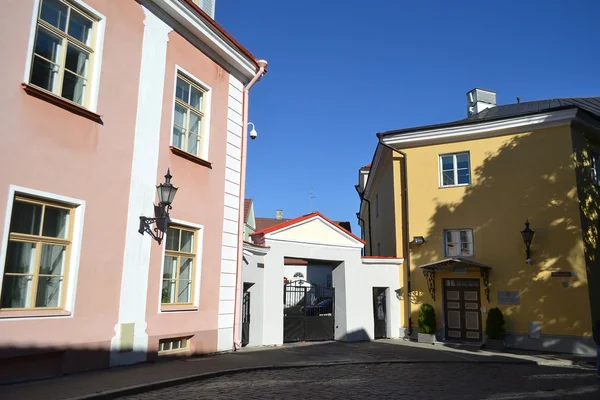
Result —
[[0, 308], [64, 308], [71, 250], [72, 208], [16, 197]]

